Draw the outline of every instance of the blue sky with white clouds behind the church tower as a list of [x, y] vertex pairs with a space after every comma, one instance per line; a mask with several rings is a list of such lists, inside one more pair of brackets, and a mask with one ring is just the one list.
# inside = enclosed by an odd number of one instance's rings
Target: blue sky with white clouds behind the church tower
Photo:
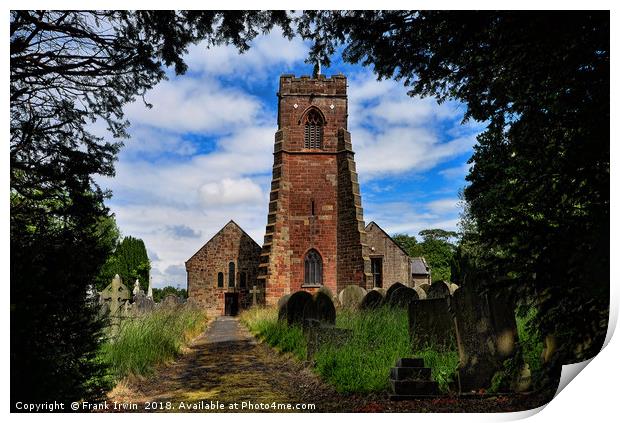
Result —
[[[184, 262], [230, 219], [259, 244], [267, 219], [281, 74], [309, 75], [308, 45], [278, 31], [239, 55], [192, 46], [189, 71], [126, 107], [131, 139], [107, 201], [123, 235], [142, 238], [154, 286], [186, 285]], [[402, 83], [339, 57], [322, 73], [348, 78], [349, 131], [366, 222], [388, 233], [456, 229], [458, 192], [480, 125], [461, 125], [455, 102], [411, 98]], [[103, 134], [103, 128], [95, 131]]]

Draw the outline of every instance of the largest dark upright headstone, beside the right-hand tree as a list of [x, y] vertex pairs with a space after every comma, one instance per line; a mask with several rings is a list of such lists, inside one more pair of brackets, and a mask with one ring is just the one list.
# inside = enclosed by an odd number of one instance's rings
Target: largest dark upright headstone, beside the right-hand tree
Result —
[[491, 386], [493, 375], [515, 352], [517, 329], [514, 303], [508, 292], [491, 288], [482, 292], [461, 287], [454, 293], [459, 379], [462, 391]]

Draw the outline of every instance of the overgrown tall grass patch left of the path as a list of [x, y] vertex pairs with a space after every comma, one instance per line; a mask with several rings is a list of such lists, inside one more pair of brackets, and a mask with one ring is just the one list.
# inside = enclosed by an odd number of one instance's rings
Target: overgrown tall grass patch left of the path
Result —
[[206, 321], [204, 312], [190, 306], [123, 319], [114, 336], [103, 344], [99, 357], [116, 380], [150, 374], [158, 364], [178, 356]]

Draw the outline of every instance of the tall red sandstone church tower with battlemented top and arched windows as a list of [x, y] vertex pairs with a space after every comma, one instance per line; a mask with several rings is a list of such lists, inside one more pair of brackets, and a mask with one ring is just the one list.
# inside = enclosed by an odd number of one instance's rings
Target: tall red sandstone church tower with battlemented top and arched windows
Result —
[[301, 289], [372, 284], [343, 75], [280, 77], [258, 278], [269, 305]]

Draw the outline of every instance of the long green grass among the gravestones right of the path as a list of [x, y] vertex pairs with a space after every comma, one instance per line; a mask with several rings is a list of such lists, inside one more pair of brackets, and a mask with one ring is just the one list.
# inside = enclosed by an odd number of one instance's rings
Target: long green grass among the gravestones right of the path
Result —
[[[275, 308], [244, 312], [241, 320], [251, 332], [272, 347], [306, 360], [306, 339], [299, 326], [279, 322]], [[312, 357], [314, 370], [340, 393], [385, 392], [390, 368], [402, 357], [422, 357], [432, 368], [440, 389], [448, 391], [458, 365], [456, 351], [412, 348], [404, 309], [339, 310], [336, 326], [350, 329], [352, 336], [342, 345], [324, 344]]]

